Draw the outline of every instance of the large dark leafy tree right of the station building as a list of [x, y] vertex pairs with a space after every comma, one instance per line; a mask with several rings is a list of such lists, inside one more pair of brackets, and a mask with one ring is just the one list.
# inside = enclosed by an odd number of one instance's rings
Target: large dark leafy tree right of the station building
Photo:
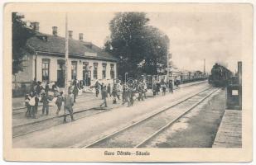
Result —
[[167, 64], [169, 40], [156, 27], [148, 26], [144, 12], [117, 13], [110, 21], [110, 40], [105, 50], [118, 58], [118, 73], [137, 77], [142, 73], [156, 74], [159, 64]]

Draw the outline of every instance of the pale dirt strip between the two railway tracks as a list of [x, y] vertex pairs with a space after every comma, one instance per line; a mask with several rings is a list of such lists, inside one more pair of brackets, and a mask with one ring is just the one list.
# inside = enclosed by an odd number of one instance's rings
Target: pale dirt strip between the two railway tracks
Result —
[[12, 139], [14, 148], [79, 148], [112, 134], [133, 122], [159, 111], [171, 102], [178, 101], [209, 87], [208, 83], [176, 90], [164, 97], [138, 101], [132, 107], [122, 106], [98, 115], [90, 115], [65, 125], [56, 125]]

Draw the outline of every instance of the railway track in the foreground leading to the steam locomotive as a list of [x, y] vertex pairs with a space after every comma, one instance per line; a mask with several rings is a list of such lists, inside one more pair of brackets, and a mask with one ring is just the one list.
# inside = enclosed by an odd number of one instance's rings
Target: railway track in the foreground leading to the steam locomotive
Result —
[[219, 88], [209, 87], [177, 102], [175, 105], [138, 120], [138, 122], [128, 125], [122, 130], [109, 134], [91, 144], [80, 146], [80, 148], [141, 148], [150, 139], [161, 134], [163, 130], [166, 130], [218, 90]]

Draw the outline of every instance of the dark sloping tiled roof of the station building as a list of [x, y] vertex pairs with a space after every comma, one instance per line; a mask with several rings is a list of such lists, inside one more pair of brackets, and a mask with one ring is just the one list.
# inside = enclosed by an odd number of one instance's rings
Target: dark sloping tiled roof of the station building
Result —
[[[43, 39], [43, 37], [46, 37], [46, 40]], [[27, 40], [27, 45], [36, 51], [65, 54], [65, 38], [60, 36], [37, 33], [35, 36]], [[117, 60], [114, 56], [104, 52], [104, 50], [91, 42], [73, 39], [69, 40], [69, 54], [91, 58], [91, 56], [88, 56], [86, 53], [97, 54], [94, 56], [94, 59]]]

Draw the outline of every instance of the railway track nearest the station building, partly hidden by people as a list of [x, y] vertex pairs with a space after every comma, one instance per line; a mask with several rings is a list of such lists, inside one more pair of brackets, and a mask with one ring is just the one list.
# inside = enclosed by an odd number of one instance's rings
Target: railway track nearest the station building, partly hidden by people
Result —
[[[199, 83], [203, 83], [203, 82], [199, 82]], [[185, 87], [191, 87], [194, 85], [198, 85], [199, 83], [187, 85]], [[179, 88], [175, 88], [174, 90], [177, 90], [177, 89]], [[120, 106], [117, 106], [117, 107], [120, 107]], [[90, 115], [103, 113], [105, 111], [109, 111], [109, 110], [104, 110], [104, 109], [99, 110], [99, 108], [87, 108], [87, 109], [80, 109], [78, 111], [74, 111], [74, 115], [75, 115], [75, 119], [81, 119]], [[25, 111], [23, 113], [25, 113]], [[21, 112], [18, 112], [17, 115], [23, 117], [24, 116], [23, 113], [21, 115]], [[47, 128], [51, 128], [51, 126], [60, 125], [63, 123], [63, 117], [64, 115], [53, 115], [51, 117], [41, 118], [40, 120], [37, 119], [35, 121], [29, 121], [21, 125], [14, 125], [12, 126], [12, 138], [17, 138], [19, 136], [30, 134], [39, 130], [45, 130]]]

